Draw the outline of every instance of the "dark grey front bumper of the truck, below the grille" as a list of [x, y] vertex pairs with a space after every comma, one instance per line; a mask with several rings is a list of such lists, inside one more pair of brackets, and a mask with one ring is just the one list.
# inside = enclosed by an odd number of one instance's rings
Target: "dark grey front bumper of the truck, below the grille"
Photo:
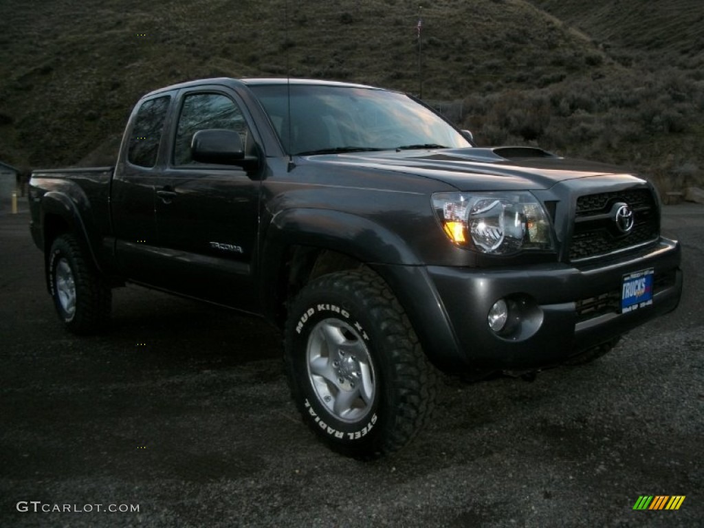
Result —
[[[558, 365], [674, 310], [682, 290], [680, 260], [679, 243], [661, 238], [654, 248], [582, 268], [429, 266], [433, 299], [444, 310], [456, 347], [451, 353], [448, 347], [434, 350], [433, 342], [423, 344], [431, 359], [446, 368], [519, 370]], [[621, 313], [622, 277], [650, 268], [655, 270], [652, 306]], [[524, 315], [523, 326], [510, 335], [497, 335], [487, 325], [489, 309], [500, 298], [516, 299], [515, 306]], [[417, 313], [417, 308], [411, 311]], [[422, 341], [434, 341], [427, 332], [419, 333]]]

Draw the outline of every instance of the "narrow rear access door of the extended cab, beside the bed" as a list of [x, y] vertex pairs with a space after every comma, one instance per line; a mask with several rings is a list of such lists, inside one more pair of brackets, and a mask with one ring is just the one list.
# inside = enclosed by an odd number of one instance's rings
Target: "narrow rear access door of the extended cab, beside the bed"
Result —
[[116, 261], [126, 277], [154, 284], [160, 275], [153, 254], [158, 247], [154, 181], [170, 95], [145, 99], [130, 120], [127, 152], [120, 153], [111, 187], [111, 218]]

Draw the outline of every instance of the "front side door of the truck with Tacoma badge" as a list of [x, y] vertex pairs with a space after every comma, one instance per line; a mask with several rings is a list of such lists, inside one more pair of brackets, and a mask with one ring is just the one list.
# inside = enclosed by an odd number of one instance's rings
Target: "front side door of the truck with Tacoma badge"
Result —
[[195, 132], [237, 131], [253, 147], [251, 127], [233, 94], [193, 89], [180, 94], [169, 160], [156, 189], [163, 287], [237, 308], [254, 308], [260, 184], [233, 165], [191, 158]]

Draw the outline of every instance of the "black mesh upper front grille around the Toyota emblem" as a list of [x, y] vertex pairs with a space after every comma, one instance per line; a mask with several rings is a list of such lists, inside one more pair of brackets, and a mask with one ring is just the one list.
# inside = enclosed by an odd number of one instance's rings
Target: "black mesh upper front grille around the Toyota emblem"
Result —
[[[615, 203], [627, 203], [633, 211], [634, 226], [629, 234], [618, 230], [610, 214]], [[657, 240], [659, 231], [658, 209], [650, 189], [579, 196], [570, 241], [570, 260], [593, 258], [640, 246]]]

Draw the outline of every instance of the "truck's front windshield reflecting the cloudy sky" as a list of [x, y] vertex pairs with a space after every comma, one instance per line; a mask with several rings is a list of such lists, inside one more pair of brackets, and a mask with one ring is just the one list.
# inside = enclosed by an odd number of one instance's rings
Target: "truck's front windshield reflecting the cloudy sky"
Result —
[[254, 85], [284, 150], [296, 155], [471, 146], [462, 134], [410, 97], [381, 89]]

